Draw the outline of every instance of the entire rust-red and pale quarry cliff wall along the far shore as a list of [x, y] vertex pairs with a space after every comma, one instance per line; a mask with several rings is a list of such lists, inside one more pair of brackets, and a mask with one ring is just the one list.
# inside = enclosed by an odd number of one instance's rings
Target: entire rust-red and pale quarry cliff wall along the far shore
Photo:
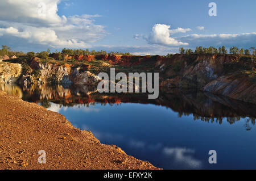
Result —
[[[93, 69], [107, 71], [111, 66], [132, 68], [134, 72], [159, 72], [160, 89], [173, 88], [187, 90], [202, 90], [232, 99], [256, 103], [256, 70], [255, 62], [250, 58], [230, 54], [175, 54], [164, 56], [121, 56], [121, 55], [81, 55], [66, 56], [75, 58], [78, 62], [93, 61]], [[104, 61], [101, 67], [97, 61]], [[96, 65], [96, 63], [98, 65]], [[22, 73], [20, 64], [0, 62], [0, 82], [11, 83], [19, 79], [24, 86], [38, 83], [55, 83], [62, 85], [77, 85], [78, 87], [97, 87], [101, 80], [93, 71], [91, 65], [72, 64], [70, 62], [49, 63], [34, 57], [30, 61], [30, 71]], [[142, 66], [143, 65], [143, 66]], [[144, 69], [144, 65], [147, 68]], [[75, 66], [75, 67], [74, 67]]]

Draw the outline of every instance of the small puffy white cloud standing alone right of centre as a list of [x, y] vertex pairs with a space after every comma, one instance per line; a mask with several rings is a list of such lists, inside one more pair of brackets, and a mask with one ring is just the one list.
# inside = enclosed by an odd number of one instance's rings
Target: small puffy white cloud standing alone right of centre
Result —
[[[181, 41], [177, 41], [174, 37], [171, 37], [170, 34], [173, 32], [181, 31], [181, 30], [169, 30], [171, 26], [166, 24], [155, 24], [152, 27], [151, 33], [145, 39], [150, 44], [160, 44], [167, 46], [179, 46], [179, 45], [188, 45], [188, 43], [183, 43]], [[173, 32], [172, 32], [173, 31]], [[182, 28], [182, 31], [187, 31]]]

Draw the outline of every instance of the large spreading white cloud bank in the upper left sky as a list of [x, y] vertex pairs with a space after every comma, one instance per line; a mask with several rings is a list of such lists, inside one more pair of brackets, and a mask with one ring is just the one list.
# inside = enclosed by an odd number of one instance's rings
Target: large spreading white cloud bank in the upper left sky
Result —
[[11, 0], [0, 2], [1, 36], [54, 48], [88, 48], [107, 33], [94, 23], [100, 15], [59, 16], [59, 0]]

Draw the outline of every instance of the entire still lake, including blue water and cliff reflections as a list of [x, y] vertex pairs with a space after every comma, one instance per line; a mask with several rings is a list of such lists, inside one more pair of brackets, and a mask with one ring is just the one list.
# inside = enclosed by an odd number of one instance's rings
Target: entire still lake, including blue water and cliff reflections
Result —
[[[3, 85], [0, 90], [64, 115], [103, 144], [163, 169], [256, 169], [256, 105], [206, 92], [89, 92], [84, 87]], [[217, 164], [209, 164], [209, 150]]]

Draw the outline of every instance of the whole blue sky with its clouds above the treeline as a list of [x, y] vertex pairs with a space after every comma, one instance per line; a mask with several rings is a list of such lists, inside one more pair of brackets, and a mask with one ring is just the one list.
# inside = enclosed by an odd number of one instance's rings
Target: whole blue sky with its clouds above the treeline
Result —
[[[209, 16], [210, 2], [217, 16]], [[5, 0], [0, 44], [25, 52], [67, 47], [134, 54], [199, 45], [250, 48], [256, 45], [255, 7], [254, 0]]]

